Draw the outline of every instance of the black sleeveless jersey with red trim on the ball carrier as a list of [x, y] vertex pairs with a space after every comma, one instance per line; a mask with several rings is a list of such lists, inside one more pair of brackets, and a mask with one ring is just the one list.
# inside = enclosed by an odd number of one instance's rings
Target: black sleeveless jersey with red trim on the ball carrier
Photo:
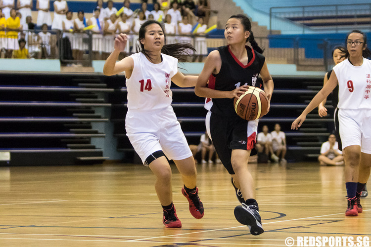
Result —
[[[209, 88], [232, 91], [233, 89], [242, 86], [250, 85], [261, 87], [261, 83], [257, 80], [260, 70], [263, 67], [265, 57], [254, 51], [249, 46], [246, 46], [248, 63], [243, 65], [233, 55], [229, 45], [220, 46], [217, 48], [222, 59], [222, 66], [217, 75], [211, 75], [209, 78]], [[237, 116], [233, 108], [233, 99], [209, 99], [205, 100], [205, 108], [214, 114], [224, 116]]]

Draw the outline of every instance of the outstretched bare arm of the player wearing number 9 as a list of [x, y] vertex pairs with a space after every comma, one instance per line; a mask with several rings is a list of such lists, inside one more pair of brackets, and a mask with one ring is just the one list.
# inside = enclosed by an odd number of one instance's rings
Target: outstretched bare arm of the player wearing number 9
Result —
[[309, 105], [304, 109], [302, 114], [291, 124], [291, 129], [298, 129], [298, 127], [303, 124], [305, 121], [306, 116], [310, 113], [314, 108], [316, 108], [327, 96], [330, 92], [336, 87], [338, 81], [335, 73], [331, 73], [330, 79], [325, 84], [325, 86], [314, 96], [312, 101]]

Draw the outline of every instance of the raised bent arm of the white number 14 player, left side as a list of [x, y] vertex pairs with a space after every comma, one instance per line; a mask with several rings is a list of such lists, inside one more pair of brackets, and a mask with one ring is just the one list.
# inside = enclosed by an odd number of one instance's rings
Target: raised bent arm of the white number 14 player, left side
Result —
[[124, 51], [128, 37], [126, 34], [120, 34], [115, 39], [114, 49], [107, 58], [103, 66], [103, 74], [106, 76], [116, 75], [125, 71], [125, 76], [130, 78], [134, 68], [134, 60], [132, 57], [125, 57], [121, 61], [117, 61], [121, 51]]

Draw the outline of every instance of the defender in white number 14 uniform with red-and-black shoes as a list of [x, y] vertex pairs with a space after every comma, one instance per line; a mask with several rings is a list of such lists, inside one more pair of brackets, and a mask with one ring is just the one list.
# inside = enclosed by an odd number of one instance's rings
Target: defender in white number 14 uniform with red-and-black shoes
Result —
[[[139, 53], [116, 63], [125, 49], [126, 34], [114, 41], [114, 50], [107, 58], [103, 73], [115, 75], [125, 71], [128, 90], [126, 131], [144, 165], [156, 176], [155, 189], [163, 207], [165, 227], [182, 227], [172, 201], [171, 168], [166, 160], [173, 160], [184, 183], [182, 194], [187, 198], [189, 211], [195, 218], [204, 215], [196, 187], [196, 167], [185, 135], [171, 107], [171, 81], [181, 87], [194, 86], [195, 76], [178, 71], [178, 58], [190, 44], [165, 45], [166, 37], [160, 23], [151, 20], [139, 29]], [[193, 49], [194, 50], [194, 49]], [[166, 155], [166, 157], [165, 157]]]

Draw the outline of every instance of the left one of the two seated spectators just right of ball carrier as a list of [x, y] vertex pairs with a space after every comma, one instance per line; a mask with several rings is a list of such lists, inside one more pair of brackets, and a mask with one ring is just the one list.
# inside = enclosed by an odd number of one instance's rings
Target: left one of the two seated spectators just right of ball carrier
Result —
[[263, 132], [260, 132], [256, 138], [255, 148], [258, 151], [258, 157], [265, 155], [266, 156], [265, 160], [267, 160], [267, 162], [269, 160], [269, 157], [274, 162], [278, 162], [279, 158], [273, 152], [272, 135], [268, 132], [269, 131], [268, 126], [264, 125], [262, 130]]

